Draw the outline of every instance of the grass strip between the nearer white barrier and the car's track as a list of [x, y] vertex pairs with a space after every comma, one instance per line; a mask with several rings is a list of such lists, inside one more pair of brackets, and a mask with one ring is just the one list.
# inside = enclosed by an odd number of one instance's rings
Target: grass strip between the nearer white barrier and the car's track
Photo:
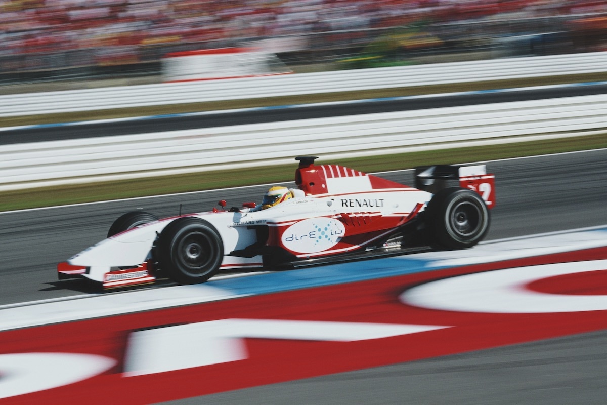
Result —
[[[503, 145], [452, 148], [360, 158], [344, 158], [317, 163], [347, 166], [364, 172], [409, 169], [415, 166], [458, 164], [503, 158], [607, 148], [607, 133], [555, 140], [528, 141]], [[44, 206], [155, 196], [293, 180], [297, 162], [270, 169], [234, 169], [217, 172], [150, 177], [83, 185], [53, 186], [0, 192], [0, 211]], [[496, 173], [499, 176], [499, 173]]]

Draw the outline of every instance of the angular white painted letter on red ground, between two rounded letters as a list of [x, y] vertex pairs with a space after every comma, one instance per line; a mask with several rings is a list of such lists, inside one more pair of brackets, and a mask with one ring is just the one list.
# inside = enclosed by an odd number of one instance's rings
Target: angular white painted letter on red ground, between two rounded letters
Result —
[[124, 375], [163, 373], [243, 360], [248, 358], [243, 338], [353, 342], [447, 327], [232, 318], [154, 328], [131, 334]]

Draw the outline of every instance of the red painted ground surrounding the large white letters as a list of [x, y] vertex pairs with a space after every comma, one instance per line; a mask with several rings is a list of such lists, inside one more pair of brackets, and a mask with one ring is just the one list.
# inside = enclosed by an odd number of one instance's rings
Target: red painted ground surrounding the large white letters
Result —
[[[309, 288], [223, 302], [70, 322], [0, 333], [0, 354], [73, 352], [109, 356], [118, 366], [70, 386], [0, 400], [0, 404], [147, 404], [416, 359], [481, 350], [607, 328], [607, 311], [487, 314], [428, 310], [401, 304], [399, 294], [422, 282], [500, 268], [606, 259], [607, 248], [510, 260], [345, 285]], [[588, 274], [576, 274], [577, 284]], [[551, 277], [531, 288], [559, 293], [605, 292], [607, 271], [574, 288], [570, 277]], [[533, 284], [533, 283], [532, 283]], [[77, 305], [77, 302], [75, 302]], [[215, 319], [293, 319], [451, 325], [450, 328], [354, 342], [246, 339], [248, 359], [212, 366], [124, 377], [129, 333], [140, 328]], [[179, 342], [176, 341], [175, 345]], [[205, 347], [200, 347], [205, 350]]]

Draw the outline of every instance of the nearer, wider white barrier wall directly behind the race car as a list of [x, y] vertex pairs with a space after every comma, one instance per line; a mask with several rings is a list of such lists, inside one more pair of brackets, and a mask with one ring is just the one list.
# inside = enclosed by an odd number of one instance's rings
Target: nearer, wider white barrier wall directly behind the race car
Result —
[[0, 191], [595, 133], [607, 95], [0, 146]]

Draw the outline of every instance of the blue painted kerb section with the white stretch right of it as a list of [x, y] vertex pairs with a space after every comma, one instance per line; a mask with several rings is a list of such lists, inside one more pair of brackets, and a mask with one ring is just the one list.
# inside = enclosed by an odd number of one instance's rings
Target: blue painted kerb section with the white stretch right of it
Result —
[[223, 288], [233, 294], [260, 295], [605, 246], [607, 227], [602, 225], [565, 233], [481, 243], [464, 250], [405, 254], [248, 277], [211, 279], [206, 285]]

